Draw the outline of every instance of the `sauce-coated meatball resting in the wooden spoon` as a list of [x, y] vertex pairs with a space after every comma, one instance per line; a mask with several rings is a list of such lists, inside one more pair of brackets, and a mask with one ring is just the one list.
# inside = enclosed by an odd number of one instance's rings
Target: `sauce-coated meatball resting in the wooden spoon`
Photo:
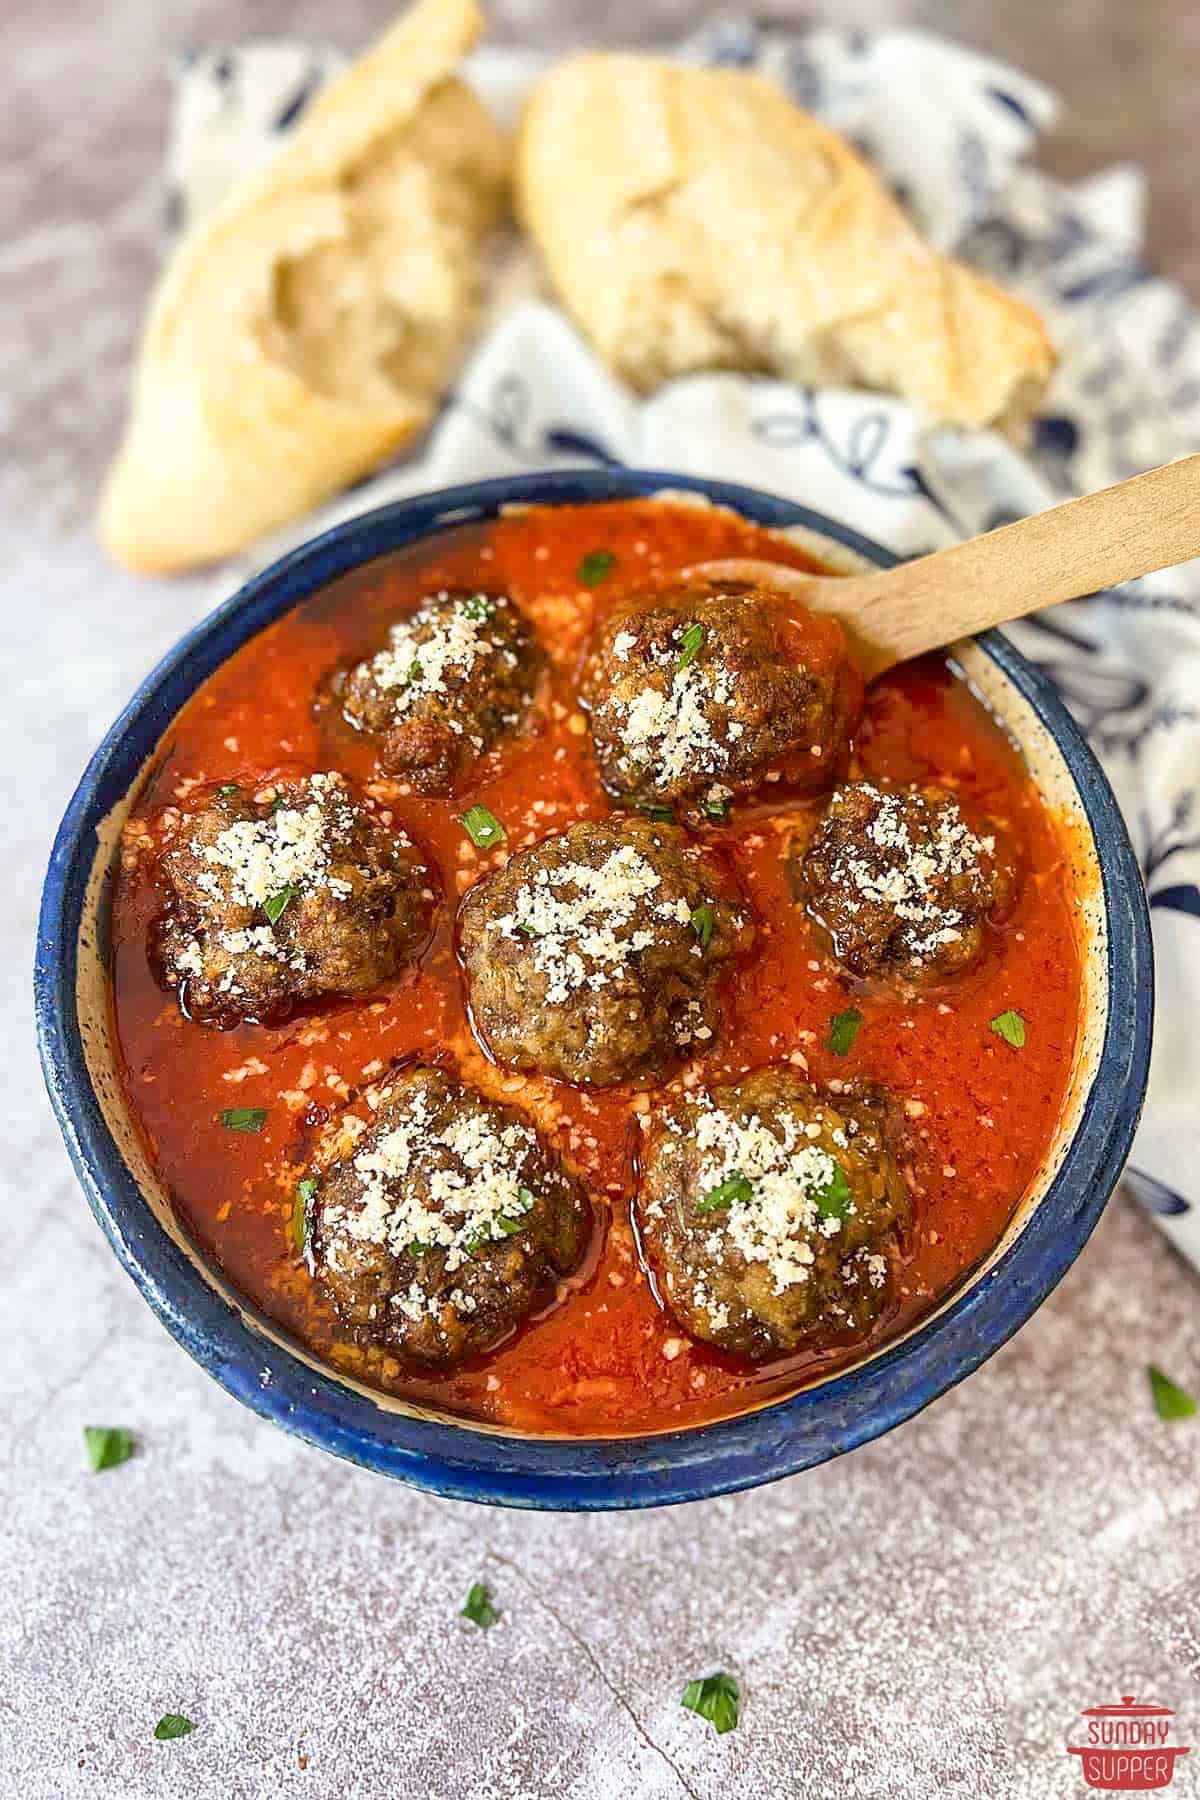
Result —
[[594, 639], [581, 700], [610, 794], [702, 819], [766, 776], [831, 783], [851, 688], [831, 619], [727, 583], [619, 605]]

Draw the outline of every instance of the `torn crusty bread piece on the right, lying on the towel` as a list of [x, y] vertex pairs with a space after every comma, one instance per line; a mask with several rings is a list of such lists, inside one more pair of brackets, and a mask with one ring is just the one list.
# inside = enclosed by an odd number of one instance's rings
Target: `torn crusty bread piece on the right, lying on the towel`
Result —
[[930, 248], [849, 144], [759, 76], [561, 63], [525, 110], [516, 205], [637, 389], [757, 369], [990, 425], [1025, 418], [1052, 367], [1036, 313]]

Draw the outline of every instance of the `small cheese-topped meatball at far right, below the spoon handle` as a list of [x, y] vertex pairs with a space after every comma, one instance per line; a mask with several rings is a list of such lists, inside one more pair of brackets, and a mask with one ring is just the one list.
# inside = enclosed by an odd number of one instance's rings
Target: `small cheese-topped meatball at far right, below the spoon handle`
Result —
[[995, 835], [977, 837], [952, 794], [871, 781], [837, 790], [792, 880], [844, 968], [907, 981], [972, 963], [1016, 887]]

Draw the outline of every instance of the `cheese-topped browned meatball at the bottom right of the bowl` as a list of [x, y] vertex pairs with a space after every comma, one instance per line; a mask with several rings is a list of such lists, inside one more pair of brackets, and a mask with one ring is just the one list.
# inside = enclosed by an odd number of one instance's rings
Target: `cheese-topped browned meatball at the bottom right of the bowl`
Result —
[[637, 1219], [667, 1310], [743, 1357], [862, 1337], [891, 1309], [910, 1199], [900, 1109], [792, 1069], [651, 1116]]

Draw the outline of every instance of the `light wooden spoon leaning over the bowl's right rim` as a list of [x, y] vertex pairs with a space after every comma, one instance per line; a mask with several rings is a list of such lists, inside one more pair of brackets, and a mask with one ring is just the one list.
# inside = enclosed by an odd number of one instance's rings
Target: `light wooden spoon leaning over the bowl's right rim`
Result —
[[774, 587], [813, 612], [835, 612], [874, 680], [925, 650], [1191, 556], [1200, 556], [1200, 455], [878, 574], [813, 576], [750, 556], [691, 572]]

